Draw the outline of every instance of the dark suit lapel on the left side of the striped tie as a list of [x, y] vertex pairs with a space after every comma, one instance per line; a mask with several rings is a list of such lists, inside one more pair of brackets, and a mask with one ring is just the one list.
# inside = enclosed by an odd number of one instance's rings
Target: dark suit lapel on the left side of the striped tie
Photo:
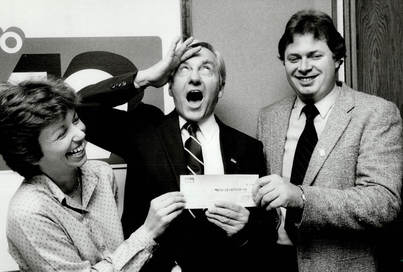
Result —
[[164, 117], [162, 125], [157, 128], [157, 133], [175, 173], [178, 185], [180, 185], [180, 175], [185, 175], [187, 168], [176, 109]]

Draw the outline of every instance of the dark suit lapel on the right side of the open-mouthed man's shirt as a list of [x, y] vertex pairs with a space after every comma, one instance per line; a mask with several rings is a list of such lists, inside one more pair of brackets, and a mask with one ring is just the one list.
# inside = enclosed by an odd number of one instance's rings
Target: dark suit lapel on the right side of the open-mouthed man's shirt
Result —
[[214, 117], [220, 128], [220, 148], [222, 164], [224, 165], [224, 174], [237, 174], [238, 167], [227, 167], [227, 165], [233, 165], [236, 161], [239, 161], [237, 158], [237, 150], [233, 142], [233, 136], [231, 135], [231, 132], [228, 131], [228, 127], [222, 123], [216, 115], [214, 115]]

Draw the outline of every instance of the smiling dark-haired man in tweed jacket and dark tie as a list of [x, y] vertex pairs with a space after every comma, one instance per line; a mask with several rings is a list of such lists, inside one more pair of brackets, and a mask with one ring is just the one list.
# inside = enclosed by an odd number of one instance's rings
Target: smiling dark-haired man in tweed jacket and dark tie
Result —
[[374, 235], [401, 205], [399, 110], [335, 80], [345, 43], [322, 12], [294, 14], [278, 51], [296, 95], [260, 111], [267, 176], [253, 187], [277, 209], [277, 265], [376, 271]]

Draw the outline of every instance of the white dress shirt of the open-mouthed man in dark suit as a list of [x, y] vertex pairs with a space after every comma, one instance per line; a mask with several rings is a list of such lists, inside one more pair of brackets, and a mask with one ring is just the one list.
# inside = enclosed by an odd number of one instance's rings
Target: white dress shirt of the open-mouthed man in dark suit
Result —
[[[186, 140], [190, 137], [189, 132], [182, 128], [186, 122], [179, 115], [179, 128], [181, 129], [183, 146], [185, 146]], [[197, 125], [200, 128], [200, 130], [196, 131], [196, 136], [202, 144], [204, 175], [224, 174], [224, 164], [222, 163], [220, 148], [220, 128], [214, 114], [197, 122]]]

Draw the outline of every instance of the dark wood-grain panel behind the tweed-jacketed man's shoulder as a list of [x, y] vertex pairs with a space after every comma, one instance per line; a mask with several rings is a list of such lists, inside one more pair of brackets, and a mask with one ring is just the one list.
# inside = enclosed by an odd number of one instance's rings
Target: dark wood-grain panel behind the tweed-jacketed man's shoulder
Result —
[[395, 102], [403, 116], [403, 0], [355, 2], [357, 89]]

